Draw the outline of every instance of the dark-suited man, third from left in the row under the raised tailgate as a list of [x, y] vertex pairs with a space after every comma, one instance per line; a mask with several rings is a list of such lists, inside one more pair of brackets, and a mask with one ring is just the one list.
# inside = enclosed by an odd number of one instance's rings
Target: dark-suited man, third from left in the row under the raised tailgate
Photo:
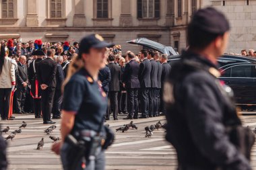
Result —
[[156, 89], [158, 87], [158, 65], [156, 64], [156, 61], [154, 60], [154, 51], [150, 50], [148, 54], [148, 59], [151, 63], [151, 73], [150, 73], [150, 79], [151, 79], [151, 88], [148, 93], [148, 98], [150, 102], [149, 106], [149, 116], [152, 118], [153, 116], [156, 117]]

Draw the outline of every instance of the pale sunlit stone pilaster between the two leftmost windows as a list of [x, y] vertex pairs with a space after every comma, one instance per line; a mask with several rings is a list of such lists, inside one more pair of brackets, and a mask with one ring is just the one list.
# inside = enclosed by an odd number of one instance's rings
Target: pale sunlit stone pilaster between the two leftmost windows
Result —
[[26, 26], [38, 26], [37, 0], [27, 0]]

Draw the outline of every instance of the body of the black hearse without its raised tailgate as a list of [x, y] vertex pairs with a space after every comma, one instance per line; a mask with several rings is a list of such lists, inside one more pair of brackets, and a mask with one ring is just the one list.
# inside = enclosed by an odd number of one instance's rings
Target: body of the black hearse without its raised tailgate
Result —
[[[180, 56], [170, 56], [168, 63], [173, 65]], [[220, 80], [229, 85], [237, 105], [256, 105], [256, 58], [224, 55], [218, 58], [222, 72]]]

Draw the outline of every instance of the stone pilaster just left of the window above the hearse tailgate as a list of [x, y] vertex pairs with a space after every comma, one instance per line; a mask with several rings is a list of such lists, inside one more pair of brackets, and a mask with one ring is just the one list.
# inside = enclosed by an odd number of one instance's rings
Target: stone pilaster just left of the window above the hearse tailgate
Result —
[[133, 26], [131, 17], [131, 0], [121, 0], [121, 14], [119, 20], [120, 26]]

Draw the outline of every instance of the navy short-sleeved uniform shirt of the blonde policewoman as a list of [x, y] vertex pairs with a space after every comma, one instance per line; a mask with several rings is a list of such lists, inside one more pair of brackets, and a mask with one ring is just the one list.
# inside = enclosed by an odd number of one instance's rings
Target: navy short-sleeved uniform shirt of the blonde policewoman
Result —
[[72, 133], [77, 130], [98, 132], [100, 124], [103, 124], [106, 106], [106, 93], [86, 69], [77, 71], [65, 85], [63, 110], [76, 112]]

